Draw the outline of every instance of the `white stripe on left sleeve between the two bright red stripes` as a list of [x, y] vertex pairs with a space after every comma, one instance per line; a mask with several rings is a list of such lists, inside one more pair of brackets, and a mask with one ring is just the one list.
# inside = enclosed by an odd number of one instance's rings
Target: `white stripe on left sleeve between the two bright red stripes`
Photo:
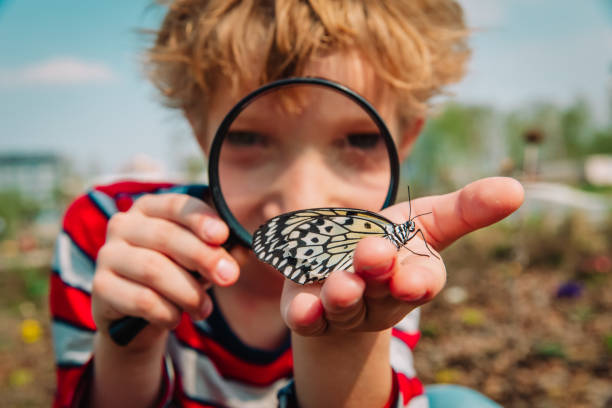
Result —
[[66, 284], [91, 293], [95, 264], [65, 232], [61, 232], [57, 238], [53, 269], [59, 272]]

